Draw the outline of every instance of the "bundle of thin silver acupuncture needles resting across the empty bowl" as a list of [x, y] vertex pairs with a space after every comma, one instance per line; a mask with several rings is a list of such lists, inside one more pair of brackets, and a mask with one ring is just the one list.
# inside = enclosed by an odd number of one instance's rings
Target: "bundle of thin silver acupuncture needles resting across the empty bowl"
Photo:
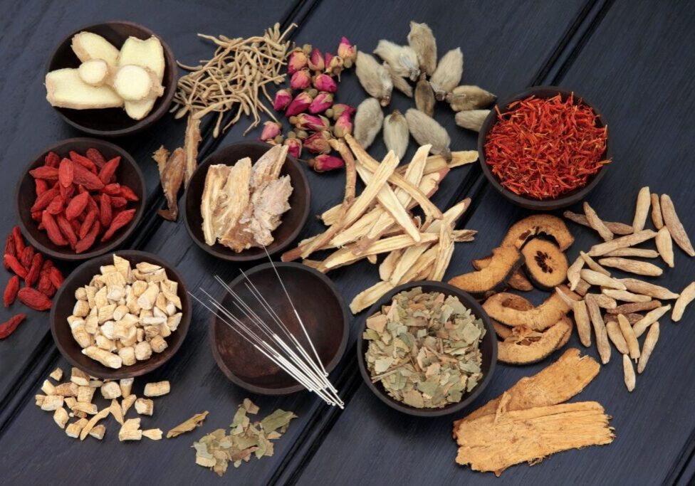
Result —
[[[266, 250], [266, 254], [268, 250]], [[258, 291], [254, 282], [251, 282], [249, 276], [241, 271], [244, 275], [244, 285], [254, 297], [254, 301], [245, 302], [241, 296], [227, 285], [224, 280], [215, 275], [215, 280], [224, 287], [224, 290], [229, 293], [234, 305], [234, 309], [230, 310], [224, 305], [221, 305], [208, 292], [200, 289], [204, 293], [208, 302], [203, 302], [195, 295], [191, 296], [200, 302], [203, 307], [212, 312], [221, 322], [229, 326], [236, 334], [239, 334], [258, 352], [270, 359], [274, 364], [286, 371], [293, 379], [298, 381], [305, 389], [313, 391], [320, 398], [331, 406], [343, 408], [345, 403], [338, 396], [338, 390], [333, 387], [333, 384], [328, 380], [328, 372], [321, 363], [320, 357], [316, 352], [313, 342], [309, 337], [304, 322], [297, 312], [297, 309], [292, 302], [289, 292], [278, 273], [278, 269], [268, 255], [268, 260], [271, 262], [273, 271], [278, 278], [289, 305], [292, 307], [293, 315], [297, 320], [299, 327], [302, 330], [303, 337], [299, 339], [291, 332], [283, 320], [273, 310], [273, 307], [268, 303], [265, 297]], [[258, 304], [258, 306], [256, 306]], [[254, 310], [254, 307], [255, 310]], [[260, 308], [259, 308], [260, 307]], [[238, 313], [238, 314], [237, 314]], [[241, 318], [239, 317], [241, 316]], [[243, 319], [243, 320], [242, 320]], [[300, 341], [308, 344], [306, 347]]]

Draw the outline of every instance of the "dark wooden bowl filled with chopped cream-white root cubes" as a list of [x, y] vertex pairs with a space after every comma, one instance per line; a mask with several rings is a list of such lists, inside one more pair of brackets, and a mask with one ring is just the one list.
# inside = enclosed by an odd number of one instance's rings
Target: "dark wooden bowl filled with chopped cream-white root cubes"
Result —
[[140, 376], [181, 346], [191, 322], [181, 275], [152, 253], [122, 250], [76, 268], [51, 309], [58, 350], [104, 379]]

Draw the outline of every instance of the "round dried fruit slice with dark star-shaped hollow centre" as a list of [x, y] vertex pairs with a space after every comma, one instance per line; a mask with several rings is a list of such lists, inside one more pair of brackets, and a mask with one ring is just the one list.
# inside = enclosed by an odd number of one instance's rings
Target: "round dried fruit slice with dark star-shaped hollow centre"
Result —
[[567, 278], [569, 263], [558, 245], [542, 238], [533, 238], [521, 248], [523, 269], [537, 287], [551, 290]]

